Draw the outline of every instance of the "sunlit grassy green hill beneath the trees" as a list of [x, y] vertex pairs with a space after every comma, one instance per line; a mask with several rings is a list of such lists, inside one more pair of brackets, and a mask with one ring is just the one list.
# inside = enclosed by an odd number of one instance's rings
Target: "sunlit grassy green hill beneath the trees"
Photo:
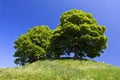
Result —
[[2, 68], [0, 80], [120, 80], [120, 68], [89, 60], [42, 60]]

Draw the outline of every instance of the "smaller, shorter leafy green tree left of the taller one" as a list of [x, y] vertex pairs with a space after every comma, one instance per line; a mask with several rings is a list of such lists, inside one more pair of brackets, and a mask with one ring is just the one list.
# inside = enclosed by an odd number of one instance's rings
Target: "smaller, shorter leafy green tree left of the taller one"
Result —
[[36, 26], [21, 35], [15, 42], [15, 63], [25, 65], [45, 57], [52, 30], [47, 26]]

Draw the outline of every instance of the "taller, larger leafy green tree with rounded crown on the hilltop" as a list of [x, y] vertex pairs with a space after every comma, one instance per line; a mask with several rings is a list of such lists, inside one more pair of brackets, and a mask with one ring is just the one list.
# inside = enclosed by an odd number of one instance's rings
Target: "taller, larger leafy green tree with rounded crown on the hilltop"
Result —
[[51, 38], [51, 55], [75, 53], [75, 58], [95, 58], [107, 48], [106, 28], [98, 25], [91, 13], [81, 10], [64, 12]]

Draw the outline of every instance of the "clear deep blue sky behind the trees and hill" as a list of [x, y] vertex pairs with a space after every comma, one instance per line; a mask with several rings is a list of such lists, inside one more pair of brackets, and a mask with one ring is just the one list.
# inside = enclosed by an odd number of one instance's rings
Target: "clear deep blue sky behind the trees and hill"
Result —
[[70, 9], [91, 12], [107, 27], [105, 53], [95, 60], [120, 67], [120, 0], [0, 0], [0, 67], [13, 67], [14, 41], [29, 28], [55, 29], [60, 15]]

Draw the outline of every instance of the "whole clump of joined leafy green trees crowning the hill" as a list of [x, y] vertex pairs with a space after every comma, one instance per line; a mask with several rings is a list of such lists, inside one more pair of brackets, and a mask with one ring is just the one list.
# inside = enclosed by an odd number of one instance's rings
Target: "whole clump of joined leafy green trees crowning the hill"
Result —
[[105, 31], [90, 13], [75, 9], [64, 12], [55, 30], [37, 26], [15, 41], [15, 63], [24, 65], [70, 53], [74, 53], [76, 59], [95, 58], [107, 48]]

